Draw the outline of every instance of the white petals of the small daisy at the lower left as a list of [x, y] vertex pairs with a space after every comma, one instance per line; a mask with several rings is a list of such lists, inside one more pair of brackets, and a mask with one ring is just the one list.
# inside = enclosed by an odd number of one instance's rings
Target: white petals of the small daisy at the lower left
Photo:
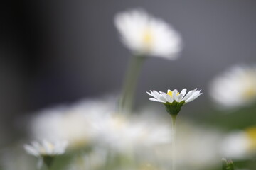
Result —
[[43, 140], [41, 143], [33, 141], [31, 142], [31, 145], [24, 145], [24, 149], [28, 154], [40, 157], [64, 154], [67, 146], [67, 141], [49, 142]]

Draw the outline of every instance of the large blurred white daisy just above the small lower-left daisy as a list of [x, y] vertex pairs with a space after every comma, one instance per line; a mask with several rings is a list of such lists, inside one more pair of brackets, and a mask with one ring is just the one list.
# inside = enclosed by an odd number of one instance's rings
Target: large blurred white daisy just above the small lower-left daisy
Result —
[[87, 99], [73, 106], [43, 110], [31, 120], [31, 135], [38, 140], [68, 140], [73, 149], [86, 147], [97, 136], [94, 124], [114, 111], [113, 99]]

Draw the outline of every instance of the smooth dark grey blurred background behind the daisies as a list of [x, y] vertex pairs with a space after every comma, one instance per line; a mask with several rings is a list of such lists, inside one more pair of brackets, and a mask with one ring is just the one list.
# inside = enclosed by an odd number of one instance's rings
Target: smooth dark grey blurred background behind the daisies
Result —
[[9, 1], [1, 10], [2, 133], [41, 108], [117, 94], [131, 54], [119, 41], [113, 17], [130, 8], [171, 23], [184, 42], [178, 60], [146, 61], [137, 108], [149, 104], [150, 89], [197, 87], [203, 96], [183, 115], [201, 117], [199, 110], [211, 107], [210, 80], [233, 64], [256, 62], [255, 7], [249, 0]]

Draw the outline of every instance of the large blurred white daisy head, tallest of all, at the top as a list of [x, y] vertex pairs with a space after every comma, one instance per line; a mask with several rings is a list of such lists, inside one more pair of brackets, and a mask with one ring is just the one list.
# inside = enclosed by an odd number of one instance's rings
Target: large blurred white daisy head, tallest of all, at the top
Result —
[[176, 30], [142, 9], [118, 13], [114, 24], [124, 45], [135, 55], [174, 59], [181, 51], [181, 36]]

